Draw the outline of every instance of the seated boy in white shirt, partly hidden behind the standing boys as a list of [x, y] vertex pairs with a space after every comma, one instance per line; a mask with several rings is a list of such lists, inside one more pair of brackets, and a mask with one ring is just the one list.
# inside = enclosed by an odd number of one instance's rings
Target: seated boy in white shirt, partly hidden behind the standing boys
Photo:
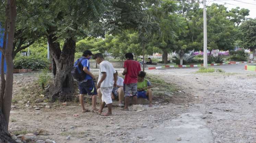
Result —
[[[116, 71], [117, 72], [117, 71]], [[118, 75], [118, 73], [117, 73]], [[117, 76], [117, 87], [114, 87], [112, 90], [111, 98], [112, 100], [118, 99], [119, 107], [124, 107], [123, 104], [123, 98], [124, 98], [124, 90], [123, 90], [123, 85], [124, 85], [124, 80], [122, 77]], [[100, 92], [100, 89], [97, 90], [98, 96], [101, 98], [102, 94]]]

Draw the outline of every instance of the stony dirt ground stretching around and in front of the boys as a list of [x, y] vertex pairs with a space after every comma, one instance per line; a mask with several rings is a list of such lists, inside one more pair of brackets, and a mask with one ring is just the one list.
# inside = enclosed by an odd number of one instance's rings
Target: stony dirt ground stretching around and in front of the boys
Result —
[[[179, 86], [178, 92], [186, 93], [181, 95], [193, 98], [173, 95], [177, 98], [174, 101], [181, 102], [155, 102], [154, 107], [144, 105], [141, 112], [114, 107], [113, 116], [109, 117], [82, 113], [75, 103], [41, 103], [37, 105], [40, 111], [35, 111], [31, 106], [25, 107], [23, 98], [13, 104], [16, 107], [11, 111], [9, 130], [26, 134], [43, 129], [48, 135], [38, 135], [37, 140], [57, 143], [256, 142], [256, 74], [195, 74], [172, 69], [148, 73]], [[36, 74], [14, 75], [13, 96], [20, 90], [26, 94], [25, 89], [36, 78]]]

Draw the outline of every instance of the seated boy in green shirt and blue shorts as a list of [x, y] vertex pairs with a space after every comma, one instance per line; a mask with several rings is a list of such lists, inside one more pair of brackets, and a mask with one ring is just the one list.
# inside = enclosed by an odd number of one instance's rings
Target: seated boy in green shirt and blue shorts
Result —
[[138, 82], [137, 82], [137, 95], [138, 98], [146, 98], [149, 100], [149, 107], [152, 107], [152, 98], [153, 93], [150, 88], [152, 88], [151, 83], [149, 80], [145, 79], [146, 73], [141, 71], [138, 75]]

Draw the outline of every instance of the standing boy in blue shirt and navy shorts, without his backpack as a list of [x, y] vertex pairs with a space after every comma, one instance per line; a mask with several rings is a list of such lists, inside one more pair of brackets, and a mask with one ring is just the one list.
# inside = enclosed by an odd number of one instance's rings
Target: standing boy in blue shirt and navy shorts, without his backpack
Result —
[[77, 64], [77, 62], [81, 62], [83, 66], [83, 71], [86, 73], [86, 77], [84, 80], [79, 82], [79, 101], [82, 106], [82, 112], [89, 112], [88, 109], [85, 109], [84, 107], [84, 95], [88, 94], [92, 96], [92, 102], [93, 102], [93, 111], [98, 111], [96, 108], [96, 102], [97, 102], [97, 90], [94, 84], [93, 79], [95, 79], [95, 76], [90, 72], [90, 63], [89, 59], [92, 57], [93, 53], [90, 50], [85, 50], [83, 52], [83, 55], [80, 59], [78, 59], [74, 65]]

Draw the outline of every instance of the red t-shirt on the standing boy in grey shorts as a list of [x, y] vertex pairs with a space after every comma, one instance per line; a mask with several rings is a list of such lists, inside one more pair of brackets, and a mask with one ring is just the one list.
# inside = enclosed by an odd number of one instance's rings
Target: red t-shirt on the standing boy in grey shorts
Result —
[[124, 68], [127, 68], [127, 73], [124, 77], [124, 84], [137, 83], [137, 77], [139, 71], [141, 71], [141, 65], [134, 60], [124, 61]]

